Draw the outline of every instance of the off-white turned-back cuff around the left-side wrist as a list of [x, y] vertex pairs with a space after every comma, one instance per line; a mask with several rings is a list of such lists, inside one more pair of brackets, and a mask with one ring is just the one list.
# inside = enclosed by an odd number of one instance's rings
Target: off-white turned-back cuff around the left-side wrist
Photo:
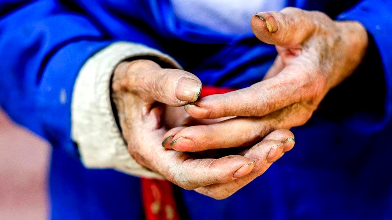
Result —
[[163, 179], [131, 157], [111, 107], [109, 88], [114, 68], [121, 61], [137, 56], [155, 56], [174, 68], [181, 68], [169, 56], [140, 44], [117, 42], [100, 50], [83, 65], [75, 82], [72, 138], [87, 168], [114, 168], [139, 177]]

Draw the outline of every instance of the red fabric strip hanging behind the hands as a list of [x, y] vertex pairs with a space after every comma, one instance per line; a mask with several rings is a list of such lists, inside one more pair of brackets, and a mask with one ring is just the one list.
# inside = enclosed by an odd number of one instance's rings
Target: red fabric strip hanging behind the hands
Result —
[[[222, 94], [233, 90], [232, 88], [204, 86], [200, 97]], [[142, 178], [141, 190], [146, 220], [180, 220], [171, 182]]]

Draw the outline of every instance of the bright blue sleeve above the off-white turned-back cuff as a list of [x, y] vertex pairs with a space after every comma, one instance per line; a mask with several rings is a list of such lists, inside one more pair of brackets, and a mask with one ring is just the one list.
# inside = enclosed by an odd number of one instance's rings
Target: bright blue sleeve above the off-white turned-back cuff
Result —
[[70, 121], [74, 81], [109, 39], [54, 0], [1, 1], [0, 106], [16, 123], [77, 156]]

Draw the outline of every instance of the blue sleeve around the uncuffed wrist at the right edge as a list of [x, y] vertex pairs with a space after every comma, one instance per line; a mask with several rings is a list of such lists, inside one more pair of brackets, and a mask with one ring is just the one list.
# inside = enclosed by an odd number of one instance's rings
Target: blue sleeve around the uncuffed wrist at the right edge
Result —
[[[356, 20], [367, 29], [370, 43], [368, 54], [354, 74], [359, 74], [357, 85], [351, 88], [361, 106], [376, 113], [356, 112], [347, 123], [362, 132], [382, 130], [392, 116], [392, 1], [362, 0], [340, 14], [337, 20]], [[378, 115], [378, 116], [377, 116]]]

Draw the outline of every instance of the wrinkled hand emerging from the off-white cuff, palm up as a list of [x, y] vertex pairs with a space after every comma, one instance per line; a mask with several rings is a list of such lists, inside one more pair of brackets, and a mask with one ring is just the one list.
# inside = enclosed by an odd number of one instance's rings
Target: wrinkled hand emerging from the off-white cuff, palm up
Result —
[[132, 157], [174, 184], [213, 198], [228, 197], [255, 178], [255, 174], [247, 175], [250, 171], [261, 174], [294, 145], [291, 132], [278, 130], [244, 152], [245, 156], [203, 159], [163, 148], [161, 142], [167, 132], [162, 126], [164, 104], [182, 106], [195, 101], [200, 94], [200, 80], [183, 70], [162, 69], [153, 61], [136, 60], [118, 65], [112, 88]]

